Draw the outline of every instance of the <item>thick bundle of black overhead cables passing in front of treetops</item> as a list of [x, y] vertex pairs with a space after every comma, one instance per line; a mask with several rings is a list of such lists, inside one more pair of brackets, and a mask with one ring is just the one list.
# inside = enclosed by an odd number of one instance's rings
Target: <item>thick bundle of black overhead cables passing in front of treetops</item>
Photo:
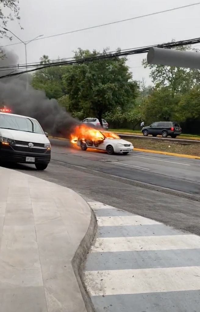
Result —
[[99, 54], [97, 56], [87, 56], [85, 58], [75, 60], [72, 59], [70, 61], [63, 61], [63, 62], [55, 62], [55, 63], [50, 63], [46, 64], [44, 66], [40, 66], [34, 69], [26, 70], [26, 71], [18, 71], [17, 73], [10, 73], [4, 76], [1, 76], [0, 79], [2, 78], [8, 78], [8, 77], [13, 77], [13, 76], [19, 76], [25, 73], [37, 71], [39, 69], [45, 69], [53, 66], [61, 66], [61, 65], [78, 65], [78, 64], [83, 64], [83, 63], [88, 63], [92, 61], [99, 61], [103, 59], [110, 59], [110, 58], [118, 58], [120, 56], [128, 56], [128, 55], [134, 55], [134, 54], [141, 54], [141, 53], [147, 53], [151, 47], [160, 47], [160, 48], [168, 48], [172, 49], [178, 46], [186, 46], [186, 45], [193, 45], [200, 43], [200, 38], [195, 38], [195, 39], [189, 39], [189, 40], [181, 40], [181, 41], [176, 41], [176, 42], [169, 42], [169, 43], [163, 43], [159, 45], [154, 45], [154, 46], [146, 46], [143, 48], [138, 48], [138, 49], [132, 49], [132, 50], [124, 50], [124, 51], [115, 51], [114, 53], [108, 53], [108, 54]]

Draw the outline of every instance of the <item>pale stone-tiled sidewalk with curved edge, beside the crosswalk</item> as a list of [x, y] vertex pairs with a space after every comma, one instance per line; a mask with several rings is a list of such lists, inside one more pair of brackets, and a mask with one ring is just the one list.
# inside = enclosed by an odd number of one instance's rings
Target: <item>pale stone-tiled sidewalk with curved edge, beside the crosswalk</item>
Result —
[[0, 167], [1, 311], [85, 312], [78, 271], [94, 227], [74, 191]]

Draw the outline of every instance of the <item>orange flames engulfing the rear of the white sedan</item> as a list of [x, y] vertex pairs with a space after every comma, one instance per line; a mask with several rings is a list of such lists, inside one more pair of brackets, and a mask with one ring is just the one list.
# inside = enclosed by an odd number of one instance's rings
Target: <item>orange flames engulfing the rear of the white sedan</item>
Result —
[[79, 139], [83, 141], [103, 141], [104, 136], [99, 130], [81, 124], [76, 126], [70, 135], [70, 141], [73, 144], [76, 144]]

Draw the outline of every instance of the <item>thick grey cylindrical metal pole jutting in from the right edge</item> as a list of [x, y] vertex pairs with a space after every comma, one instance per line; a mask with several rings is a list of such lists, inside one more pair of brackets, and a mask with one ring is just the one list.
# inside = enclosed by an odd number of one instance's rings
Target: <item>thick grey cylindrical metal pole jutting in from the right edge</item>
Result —
[[155, 47], [149, 49], [147, 62], [150, 65], [200, 69], [200, 53]]

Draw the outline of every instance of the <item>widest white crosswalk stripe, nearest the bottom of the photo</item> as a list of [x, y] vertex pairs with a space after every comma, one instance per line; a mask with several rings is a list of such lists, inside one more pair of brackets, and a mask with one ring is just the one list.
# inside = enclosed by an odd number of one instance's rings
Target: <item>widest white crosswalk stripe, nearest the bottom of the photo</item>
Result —
[[158, 293], [200, 289], [200, 266], [86, 271], [91, 296]]

